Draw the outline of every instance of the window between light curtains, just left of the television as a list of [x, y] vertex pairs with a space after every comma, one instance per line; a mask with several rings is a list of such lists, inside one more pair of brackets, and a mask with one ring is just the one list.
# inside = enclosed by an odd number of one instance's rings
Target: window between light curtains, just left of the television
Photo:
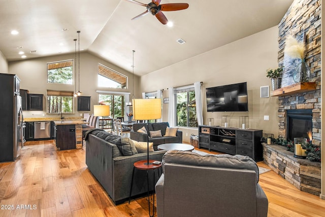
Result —
[[175, 88], [176, 125], [198, 127], [194, 86]]

